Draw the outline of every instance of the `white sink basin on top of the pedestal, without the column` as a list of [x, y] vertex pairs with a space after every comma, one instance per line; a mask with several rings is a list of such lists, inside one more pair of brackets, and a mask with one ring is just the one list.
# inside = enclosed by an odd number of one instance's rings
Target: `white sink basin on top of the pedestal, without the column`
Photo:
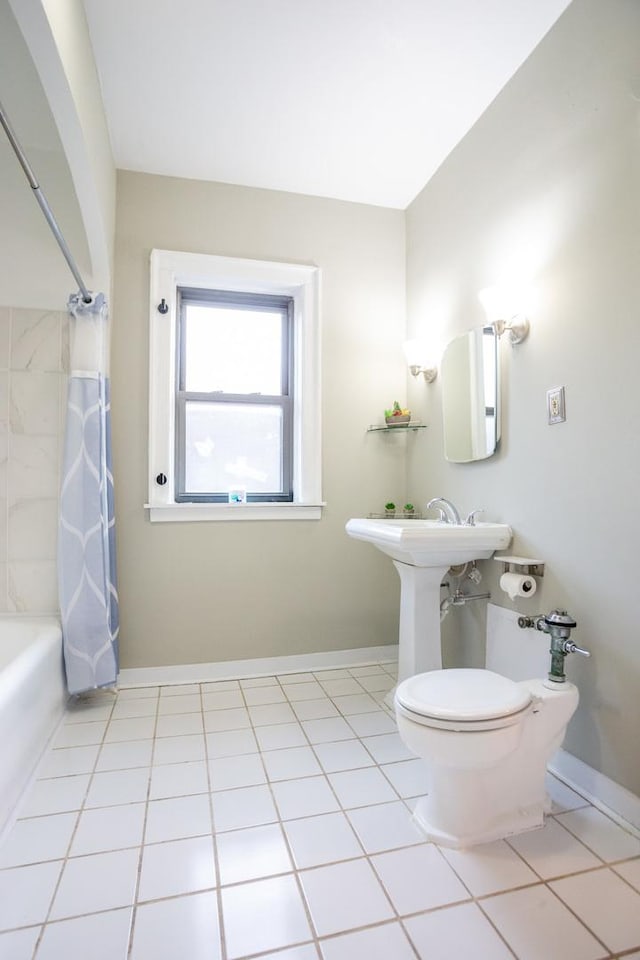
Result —
[[477, 523], [474, 527], [441, 520], [370, 520], [357, 517], [347, 533], [366, 540], [393, 560], [412, 567], [449, 567], [469, 560], [486, 560], [507, 547], [511, 528], [506, 523]]

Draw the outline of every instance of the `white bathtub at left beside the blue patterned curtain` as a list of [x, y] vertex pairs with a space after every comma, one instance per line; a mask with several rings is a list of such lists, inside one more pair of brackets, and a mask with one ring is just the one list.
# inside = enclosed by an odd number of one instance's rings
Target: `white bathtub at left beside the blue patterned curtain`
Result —
[[0, 617], [0, 837], [67, 700], [53, 617]]

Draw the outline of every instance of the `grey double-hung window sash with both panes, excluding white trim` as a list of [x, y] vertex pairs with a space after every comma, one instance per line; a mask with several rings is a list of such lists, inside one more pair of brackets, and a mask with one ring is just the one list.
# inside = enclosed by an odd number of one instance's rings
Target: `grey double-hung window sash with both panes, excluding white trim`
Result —
[[178, 291], [176, 500], [293, 500], [293, 298]]

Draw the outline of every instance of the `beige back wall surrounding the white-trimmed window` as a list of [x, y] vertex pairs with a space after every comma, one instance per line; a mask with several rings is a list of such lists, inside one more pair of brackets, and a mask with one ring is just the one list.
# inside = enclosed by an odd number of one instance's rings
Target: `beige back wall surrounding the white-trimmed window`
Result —
[[[321, 521], [149, 522], [154, 247], [321, 268]], [[366, 433], [404, 400], [404, 270], [400, 211], [119, 174], [112, 376], [123, 666], [397, 641], [397, 577], [344, 524], [405, 494], [412, 438]]]

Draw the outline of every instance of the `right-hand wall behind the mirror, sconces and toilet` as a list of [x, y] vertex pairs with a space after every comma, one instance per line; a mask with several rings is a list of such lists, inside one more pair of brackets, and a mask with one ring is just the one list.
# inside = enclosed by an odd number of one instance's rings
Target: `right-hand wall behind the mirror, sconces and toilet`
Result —
[[[484, 507], [545, 561], [523, 611], [567, 607], [591, 660], [568, 672], [581, 706], [565, 746], [640, 794], [640, 151], [632, 0], [574, 0], [407, 213], [412, 335], [444, 339], [483, 322], [477, 291], [516, 272], [540, 302], [531, 334], [502, 344], [503, 441], [484, 463], [446, 464], [440, 388], [418, 396], [432, 429], [413, 447], [422, 497]], [[635, 83], [635, 89], [633, 87]], [[548, 426], [546, 391], [565, 385], [567, 422]], [[428, 397], [428, 400], [426, 399]], [[477, 657], [482, 616], [454, 610]], [[447, 624], [455, 632], [455, 624]]]

